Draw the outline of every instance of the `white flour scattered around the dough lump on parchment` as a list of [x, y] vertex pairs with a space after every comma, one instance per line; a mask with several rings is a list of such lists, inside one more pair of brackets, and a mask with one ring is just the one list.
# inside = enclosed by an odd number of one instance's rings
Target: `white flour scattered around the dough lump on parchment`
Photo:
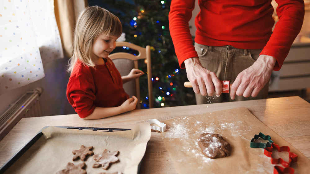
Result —
[[[209, 116], [210, 117], [210, 116]], [[180, 144], [181, 151], [188, 154], [189, 156], [193, 156], [199, 161], [209, 163], [214, 159], [207, 158], [202, 152], [201, 148], [198, 145], [198, 139], [194, 139], [199, 137], [199, 135], [203, 133], [215, 133], [221, 134], [223, 130], [230, 130], [232, 136], [238, 138], [244, 138], [242, 135], [246, 133], [246, 131], [250, 131], [251, 127], [246, 127], [243, 121], [233, 121], [228, 122], [225, 121], [220, 124], [220, 126], [215, 125], [212, 122], [202, 122], [196, 120], [193, 126], [189, 126], [189, 121], [195, 119], [194, 117], [179, 117], [172, 122], [172, 124], [167, 125], [167, 130], [164, 138], [175, 139], [178, 138], [182, 144]], [[215, 138], [215, 137], [214, 137]], [[227, 137], [226, 137], [227, 138]], [[216, 139], [216, 138], [215, 138]], [[246, 139], [246, 138], [244, 138]], [[248, 139], [246, 139], [248, 141]], [[210, 149], [214, 149], [216, 147], [221, 146], [220, 142], [215, 141], [210, 144], [209, 147], [205, 149], [206, 153]], [[182, 160], [178, 160], [178, 162], [182, 162]]]

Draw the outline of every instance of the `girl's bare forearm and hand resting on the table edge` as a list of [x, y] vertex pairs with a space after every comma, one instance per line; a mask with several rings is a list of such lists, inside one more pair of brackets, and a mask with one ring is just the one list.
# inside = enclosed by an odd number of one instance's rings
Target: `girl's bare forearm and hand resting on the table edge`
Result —
[[121, 106], [110, 108], [95, 107], [93, 113], [83, 119], [100, 119], [128, 112], [135, 109], [137, 102], [138, 99], [135, 96], [132, 96], [130, 99], [127, 99]]

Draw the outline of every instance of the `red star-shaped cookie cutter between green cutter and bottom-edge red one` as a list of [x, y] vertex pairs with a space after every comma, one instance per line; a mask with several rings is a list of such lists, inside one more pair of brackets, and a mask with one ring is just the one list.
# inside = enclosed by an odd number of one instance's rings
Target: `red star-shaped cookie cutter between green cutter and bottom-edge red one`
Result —
[[[276, 149], [279, 152], [288, 152], [289, 153], [289, 162], [284, 161], [282, 158], [272, 158], [272, 150]], [[290, 152], [290, 147], [289, 146], [279, 146], [275, 143], [271, 144], [271, 147], [266, 147], [264, 150], [264, 154], [268, 157], [271, 158], [271, 163], [272, 164], [282, 164], [283, 167], [288, 168], [290, 167], [290, 163], [294, 163], [297, 161], [297, 155], [294, 154], [293, 152]]]

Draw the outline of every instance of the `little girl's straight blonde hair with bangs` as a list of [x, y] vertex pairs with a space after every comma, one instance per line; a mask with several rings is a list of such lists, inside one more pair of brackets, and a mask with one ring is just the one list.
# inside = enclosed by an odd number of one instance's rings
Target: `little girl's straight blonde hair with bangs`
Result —
[[67, 69], [70, 74], [78, 59], [86, 66], [95, 66], [91, 59], [93, 43], [103, 33], [107, 36], [121, 36], [120, 20], [99, 6], [86, 7], [79, 15], [74, 29], [73, 56], [68, 62]]

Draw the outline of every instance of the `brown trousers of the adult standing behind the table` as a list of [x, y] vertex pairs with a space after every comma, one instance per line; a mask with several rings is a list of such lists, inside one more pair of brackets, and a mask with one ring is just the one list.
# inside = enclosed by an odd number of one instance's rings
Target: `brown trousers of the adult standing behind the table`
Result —
[[[217, 47], [197, 43], [195, 43], [195, 50], [204, 68], [215, 72], [219, 80], [229, 80], [231, 84], [242, 70], [250, 67], [258, 59], [262, 51], [261, 49], [237, 49], [231, 45]], [[201, 94], [195, 95], [197, 104], [265, 99], [268, 95], [268, 83], [256, 97], [245, 98], [236, 95], [235, 100], [231, 100], [230, 95], [227, 93], [222, 93], [219, 97], [215, 95], [212, 97], [208, 95], [202, 96]]]

